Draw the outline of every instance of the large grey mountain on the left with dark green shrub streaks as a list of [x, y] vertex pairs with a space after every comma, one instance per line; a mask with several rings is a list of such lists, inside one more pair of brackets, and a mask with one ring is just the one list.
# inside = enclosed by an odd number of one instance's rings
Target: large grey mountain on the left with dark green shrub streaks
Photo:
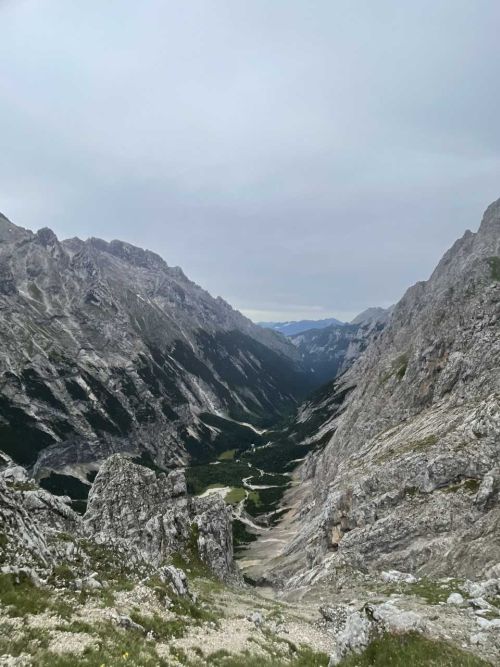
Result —
[[115, 452], [206, 457], [230, 420], [270, 423], [312, 382], [289, 341], [122, 241], [1, 216], [0, 311], [0, 448], [71, 495]]

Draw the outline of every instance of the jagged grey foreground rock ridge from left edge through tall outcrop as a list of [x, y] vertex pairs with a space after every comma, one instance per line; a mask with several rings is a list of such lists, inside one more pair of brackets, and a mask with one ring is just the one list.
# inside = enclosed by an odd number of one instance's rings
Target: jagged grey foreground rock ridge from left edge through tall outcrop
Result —
[[40, 488], [20, 466], [2, 464], [4, 567], [32, 569], [43, 578], [65, 564], [75, 576], [89, 576], [92, 545], [102, 545], [120, 554], [128, 568], [159, 568], [176, 556], [221, 580], [238, 580], [230, 511], [218, 495], [188, 496], [180, 470], [154, 472], [114, 454], [103, 463], [82, 517], [71, 509], [70, 498]]

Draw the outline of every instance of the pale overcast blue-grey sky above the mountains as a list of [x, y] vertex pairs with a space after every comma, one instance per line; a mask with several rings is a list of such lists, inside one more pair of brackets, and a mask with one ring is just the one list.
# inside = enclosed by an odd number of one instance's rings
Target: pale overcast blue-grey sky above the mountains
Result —
[[252, 319], [397, 301], [500, 197], [498, 0], [0, 0], [0, 211]]

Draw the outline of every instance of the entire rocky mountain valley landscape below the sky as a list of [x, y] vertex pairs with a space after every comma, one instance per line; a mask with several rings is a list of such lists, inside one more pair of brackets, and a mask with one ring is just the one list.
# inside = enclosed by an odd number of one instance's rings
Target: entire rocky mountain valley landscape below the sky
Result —
[[500, 200], [288, 338], [134, 246], [0, 241], [0, 664], [499, 664]]

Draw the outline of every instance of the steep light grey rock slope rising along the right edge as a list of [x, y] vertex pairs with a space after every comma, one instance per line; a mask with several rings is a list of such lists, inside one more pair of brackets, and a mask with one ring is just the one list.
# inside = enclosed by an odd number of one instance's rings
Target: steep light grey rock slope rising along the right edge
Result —
[[280, 576], [345, 564], [478, 577], [500, 562], [500, 200], [299, 412], [310, 490]]

